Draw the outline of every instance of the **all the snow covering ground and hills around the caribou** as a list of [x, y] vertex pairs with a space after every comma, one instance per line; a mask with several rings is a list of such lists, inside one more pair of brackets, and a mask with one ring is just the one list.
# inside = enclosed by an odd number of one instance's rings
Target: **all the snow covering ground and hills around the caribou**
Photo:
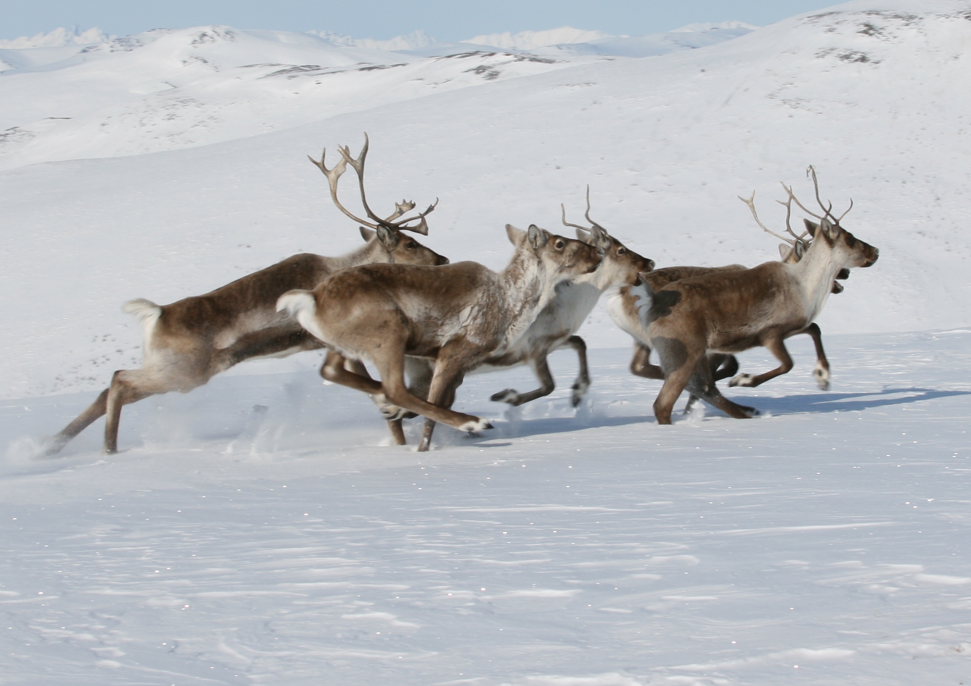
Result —
[[[966, 3], [857, 0], [643, 58], [195, 27], [0, 75], [0, 680], [966, 681], [969, 44]], [[519, 409], [488, 397], [528, 370], [470, 376], [456, 409], [496, 429], [439, 427], [429, 453], [305, 354], [126, 407], [119, 455], [99, 422], [36, 459], [139, 363], [122, 302], [358, 244], [305, 155], [362, 131], [372, 206], [440, 197], [421, 241], [490, 267], [505, 223], [555, 229], [587, 184], [657, 266], [772, 259], [735, 196], [780, 230], [778, 183], [811, 201], [814, 164], [881, 249], [820, 316], [832, 391], [799, 336], [791, 373], [725, 391], [759, 418], [659, 427], [658, 383], [598, 309], [580, 408], [571, 353]]]

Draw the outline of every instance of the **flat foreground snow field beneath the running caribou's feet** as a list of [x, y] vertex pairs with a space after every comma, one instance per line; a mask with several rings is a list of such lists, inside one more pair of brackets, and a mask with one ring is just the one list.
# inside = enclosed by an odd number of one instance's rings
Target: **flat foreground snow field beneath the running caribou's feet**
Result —
[[[954, 684], [971, 669], [971, 330], [827, 338], [676, 417], [628, 349], [504, 413], [476, 376], [441, 449], [386, 444], [362, 394], [220, 377], [0, 470], [0, 674], [45, 686]], [[764, 351], [743, 368], [772, 364]], [[93, 394], [8, 401], [0, 440]], [[419, 425], [409, 429], [413, 445]], [[100, 425], [96, 426], [100, 429]]]

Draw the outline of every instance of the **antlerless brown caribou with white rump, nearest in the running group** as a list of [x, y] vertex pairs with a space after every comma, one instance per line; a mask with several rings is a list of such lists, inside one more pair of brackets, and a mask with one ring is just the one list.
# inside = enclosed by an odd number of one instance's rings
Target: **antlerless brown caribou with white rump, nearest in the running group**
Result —
[[[335, 274], [313, 292], [285, 293], [278, 307], [329, 349], [324, 379], [430, 420], [419, 443], [424, 451], [435, 422], [464, 431], [490, 428], [484, 419], [452, 411], [463, 376], [513, 348], [555, 286], [593, 272], [603, 255], [535, 225], [521, 231], [507, 224], [506, 232], [516, 252], [498, 273], [477, 262], [373, 264]], [[405, 384], [406, 356], [435, 360], [427, 399]], [[347, 369], [348, 360], [371, 360], [381, 382]]]

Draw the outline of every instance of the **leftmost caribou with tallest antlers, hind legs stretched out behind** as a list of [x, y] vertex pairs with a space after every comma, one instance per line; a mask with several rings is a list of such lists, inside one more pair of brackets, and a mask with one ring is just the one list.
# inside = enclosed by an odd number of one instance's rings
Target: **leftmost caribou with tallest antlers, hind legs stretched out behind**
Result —
[[318, 339], [285, 313], [277, 311], [277, 299], [285, 292], [313, 289], [328, 276], [362, 264], [448, 264], [447, 257], [402, 233], [412, 231], [427, 235], [425, 218], [435, 209], [435, 204], [417, 216], [407, 217], [415, 209], [415, 203], [395, 203], [394, 213], [385, 219], [379, 218], [368, 207], [364, 192], [364, 159], [368, 143], [365, 134], [354, 170], [361, 200], [371, 222], [355, 217], [338, 200], [338, 180], [345, 172], [347, 162], [342, 161], [328, 170], [323, 165], [322, 155], [319, 162], [311, 157], [327, 177], [334, 204], [361, 224], [363, 246], [341, 257], [312, 254], [287, 257], [216, 291], [186, 297], [168, 305], [156, 305], [141, 298], [129, 300], [122, 310], [141, 321], [145, 340], [142, 367], [116, 371], [111, 385], [73, 422], [46, 441], [45, 455], [59, 452], [68, 441], [106, 414], [104, 451], [117, 453], [123, 405], [153, 394], [188, 393], [244, 360], [285, 357], [321, 348]]

